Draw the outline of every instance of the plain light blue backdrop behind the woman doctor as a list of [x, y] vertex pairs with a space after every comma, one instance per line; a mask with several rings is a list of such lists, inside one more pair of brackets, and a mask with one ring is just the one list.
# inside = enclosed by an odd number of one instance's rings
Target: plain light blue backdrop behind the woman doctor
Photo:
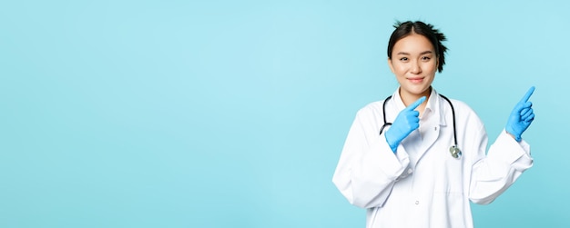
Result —
[[531, 85], [534, 167], [477, 227], [568, 227], [568, 1], [3, 1], [0, 227], [364, 227], [331, 183], [397, 87], [395, 20], [490, 141]]

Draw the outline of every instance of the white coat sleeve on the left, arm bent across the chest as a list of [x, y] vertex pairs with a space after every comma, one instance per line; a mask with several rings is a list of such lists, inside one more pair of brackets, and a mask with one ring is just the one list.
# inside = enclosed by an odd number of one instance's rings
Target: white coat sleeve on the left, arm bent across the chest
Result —
[[382, 206], [410, 163], [402, 145], [392, 153], [376, 125], [372, 113], [357, 114], [332, 177], [344, 197], [361, 208]]

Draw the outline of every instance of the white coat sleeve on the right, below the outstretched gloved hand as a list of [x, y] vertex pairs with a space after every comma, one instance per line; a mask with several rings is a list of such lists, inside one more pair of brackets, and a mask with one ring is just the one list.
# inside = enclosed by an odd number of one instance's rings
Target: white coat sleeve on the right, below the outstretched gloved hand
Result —
[[[484, 129], [482, 131], [484, 139], [479, 150], [484, 153], [487, 136]], [[532, 166], [530, 145], [524, 141], [516, 142], [503, 131], [490, 146], [486, 157], [473, 165], [470, 200], [479, 204], [492, 203]]]

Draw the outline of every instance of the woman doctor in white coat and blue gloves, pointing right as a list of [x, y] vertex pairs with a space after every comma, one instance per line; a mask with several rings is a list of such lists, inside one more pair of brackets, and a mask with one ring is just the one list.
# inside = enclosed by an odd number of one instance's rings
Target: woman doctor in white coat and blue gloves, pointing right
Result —
[[521, 135], [534, 120], [534, 87], [485, 155], [477, 114], [432, 87], [445, 36], [422, 22], [395, 28], [388, 65], [400, 87], [356, 114], [332, 182], [367, 209], [367, 227], [473, 227], [469, 201], [493, 202], [533, 165]]

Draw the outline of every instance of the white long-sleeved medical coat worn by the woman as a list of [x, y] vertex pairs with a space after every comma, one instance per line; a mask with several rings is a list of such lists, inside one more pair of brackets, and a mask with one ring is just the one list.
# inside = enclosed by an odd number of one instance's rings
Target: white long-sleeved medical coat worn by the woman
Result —
[[[453, 158], [451, 106], [435, 90], [420, 128], [394, 154], [382, 126], [382, 103], [363, 107], [351, 125], [332, 177], [348, 201], [367, 209], [366, 227], [473, 227], [469, 200], [486, 204], [533, 165], [530, 146], [504, 131], [487, 147], [483, 123], [463, 102], [452, 100], [458, 147]], [[386, 121], [405, 108], [398, 90], [386, 104]]]

